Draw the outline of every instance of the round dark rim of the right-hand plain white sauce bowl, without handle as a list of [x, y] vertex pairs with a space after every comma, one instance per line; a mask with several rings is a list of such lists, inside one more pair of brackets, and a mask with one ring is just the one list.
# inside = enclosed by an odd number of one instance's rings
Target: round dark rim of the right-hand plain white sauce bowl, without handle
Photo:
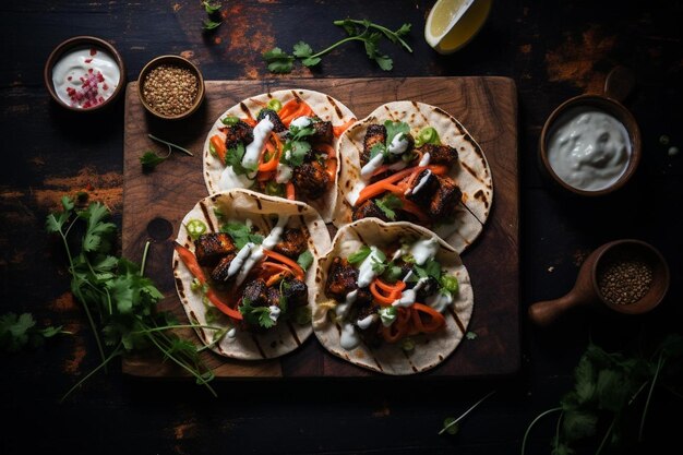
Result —
[[[622, 173], [622, 176], [611, 185], [601, 190], [594, 191], [582, 190], [562, 180], [550, 165], [547, 147], [547, 141], [553, 130], [553, 127], [555, 125], [556, 120], [564, 113], [568, 112], [572, 108], [580, 108], [586, 106], [596, 107], [615, 117], [616, 120], [619, 120], [626, 129], [626, 132], [628, 133], [628, 140], [631, 142], [631, 157], [628, 158], [628, 165], [626, 166], [624, 173]], [[560, 106], [553, 109], [550, 116], [548, 116], [539, 136], [538, 154], [543, 170], [560, 188], [582, 196], [602, 196], [613, 193], [614, 191], [624, 187], [628, 182], [628, 180], [631, 180], [636, 169], [638, 168], [638, 165], [640, 163], [640, 156], [643, 154], [640, 129], [633, 113], [616, 99], [611, 98], [607, 95], [598, 94], [578, 95], [562, 103]]]

